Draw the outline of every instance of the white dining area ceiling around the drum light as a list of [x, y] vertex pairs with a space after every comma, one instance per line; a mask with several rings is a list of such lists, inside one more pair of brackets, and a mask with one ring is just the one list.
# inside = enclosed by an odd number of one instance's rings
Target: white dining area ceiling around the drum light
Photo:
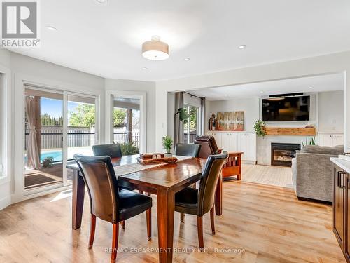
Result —
[[[13, 51], [106, 78], [158, 81], [350, 50], [349, 0], [40, 3], [41, 48]], [[141, 56], [152, 35], [169, 43], [168, 60]]]

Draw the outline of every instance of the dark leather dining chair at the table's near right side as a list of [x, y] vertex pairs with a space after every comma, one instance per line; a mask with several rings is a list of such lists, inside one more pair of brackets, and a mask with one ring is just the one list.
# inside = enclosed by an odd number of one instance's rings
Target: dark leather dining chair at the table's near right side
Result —
[[[203, 215], [210, 211], [211, 232], [215, 234], [214, 203], [215, 191], [227, 152], [211, 155], [204, 165], [200, 188], [186, 187], [175, 194], [175, 211], [181, 214], [197, 215], [197, 232], [200, 248], [204, 248]], [[183, 217], [181, 218], [182, 221]]]

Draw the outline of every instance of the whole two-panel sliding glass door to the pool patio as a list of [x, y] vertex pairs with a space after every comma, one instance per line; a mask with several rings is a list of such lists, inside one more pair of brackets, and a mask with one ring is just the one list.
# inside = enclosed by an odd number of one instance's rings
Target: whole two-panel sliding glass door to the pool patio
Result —
[[66, 163], [92, 154], [97, 143], [97, 97], [25, 88], [25, 191], [69, 185]]

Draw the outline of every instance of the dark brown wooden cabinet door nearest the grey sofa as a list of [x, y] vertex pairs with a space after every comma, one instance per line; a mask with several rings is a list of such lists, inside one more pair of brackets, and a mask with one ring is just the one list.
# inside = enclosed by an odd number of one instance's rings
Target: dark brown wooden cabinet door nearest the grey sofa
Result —
[[333, 228], [339, 245], [344, 245], [344, 173], [334, 169], [334, 196], [333, 196]]

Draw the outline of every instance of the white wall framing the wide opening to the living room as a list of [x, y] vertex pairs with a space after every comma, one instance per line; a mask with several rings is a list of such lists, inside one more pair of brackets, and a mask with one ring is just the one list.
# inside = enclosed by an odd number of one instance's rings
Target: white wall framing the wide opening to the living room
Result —
[[[243, 83], [254, 83], [260, 81], [271, 81], [277, 79], [290, 79], [302, 76], [314, 76], [319, 74], [330, 74], [342, 72], [344, 74], [344, 137], [345, 149], [350, 150], [350, 107], [346, 107], [346, 102], [350, 103], [350, 52], [321, 55], [300, 60], [272, 63], [242, 69], [232, 69], [225, 72], [190, 76], [181, 79], [172, 79], [156, 83], [156, 138], [167, 134], [167, 92], [179, 90], [196, 90], [199, 88], [211, 88], [217, 86], [231, 86]], [[234, 88], [234, 87], [233, 87]], [[348, 112], [349, 111], [349, 112]], [[349, 121], [346, 121], [349, 116]], [[162, 144], [157, 140], [157, 150]]]

